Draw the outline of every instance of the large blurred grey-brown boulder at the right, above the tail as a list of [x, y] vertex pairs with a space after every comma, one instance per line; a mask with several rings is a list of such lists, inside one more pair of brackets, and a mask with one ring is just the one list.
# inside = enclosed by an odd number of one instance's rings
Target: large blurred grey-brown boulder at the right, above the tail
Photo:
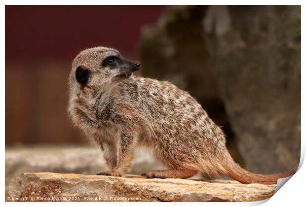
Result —
[[203, 32], [245, 168], [295, 172], [301, 152], [301, 6], [211, 6]]

